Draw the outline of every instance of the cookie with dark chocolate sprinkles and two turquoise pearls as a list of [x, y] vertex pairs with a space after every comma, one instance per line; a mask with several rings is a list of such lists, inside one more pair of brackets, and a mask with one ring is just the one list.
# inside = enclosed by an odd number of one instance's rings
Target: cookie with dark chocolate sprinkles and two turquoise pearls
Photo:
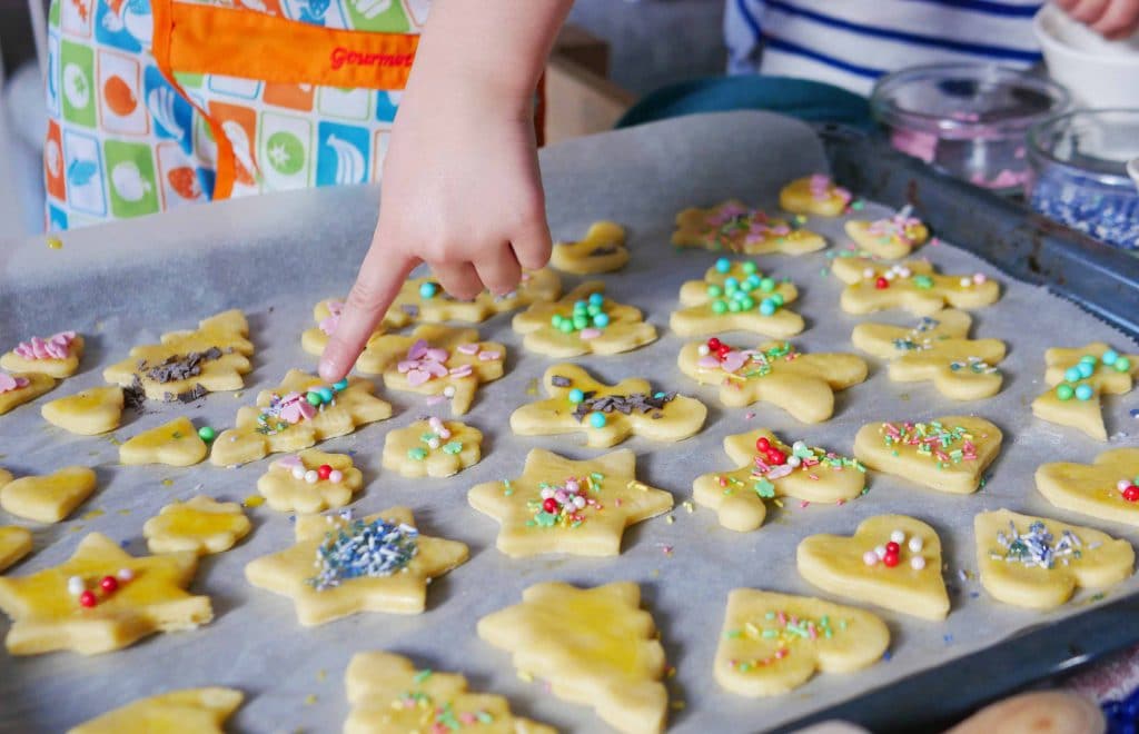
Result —
[[654, 391], [648, 380], [630, 378], [605, 385], [576, 364], [555, 364], [542, 385], [548, 399], [510, 414], [518, 436], [585, 434], [595, 448], [615, 446], [629, 436], [678, 442], [699, 432], [707, 409], [696, 398]]

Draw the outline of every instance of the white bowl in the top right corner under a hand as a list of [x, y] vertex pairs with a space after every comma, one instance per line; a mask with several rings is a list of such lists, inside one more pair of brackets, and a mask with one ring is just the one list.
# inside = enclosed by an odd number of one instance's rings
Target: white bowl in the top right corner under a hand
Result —
[[1139, 33], [1108, 41], [1048, 3], [1032, 23], [1048, 73], [1088, 107], [1139, 107]]

